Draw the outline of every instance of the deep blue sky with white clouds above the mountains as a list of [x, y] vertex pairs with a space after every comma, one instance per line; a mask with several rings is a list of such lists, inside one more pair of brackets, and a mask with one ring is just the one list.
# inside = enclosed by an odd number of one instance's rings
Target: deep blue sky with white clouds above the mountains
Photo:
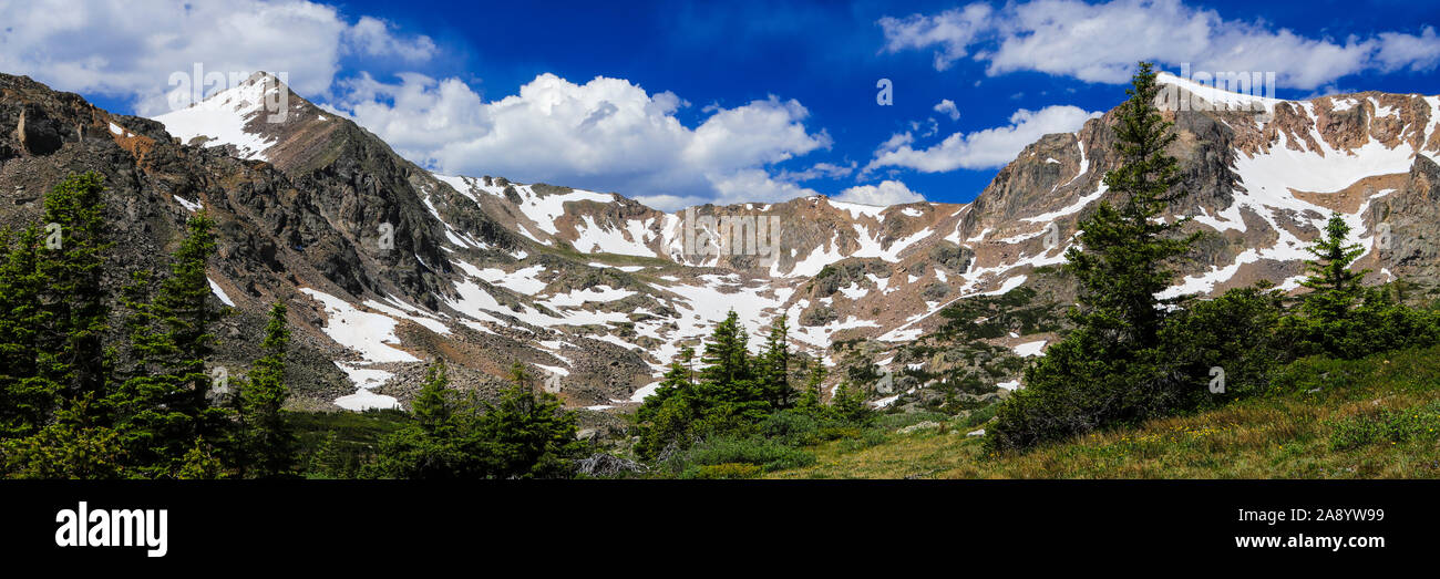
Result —
[[1140, 58], [1276, 72], [1282, 98], [1440, 94], [1426, 1], [46, 1], [0, 6], [24, 24], [0, 29], [0, 71], [145, 115], [193, 62], [287, 72], [431, 169], [662, 209], [968, 202], [1115, 107]]

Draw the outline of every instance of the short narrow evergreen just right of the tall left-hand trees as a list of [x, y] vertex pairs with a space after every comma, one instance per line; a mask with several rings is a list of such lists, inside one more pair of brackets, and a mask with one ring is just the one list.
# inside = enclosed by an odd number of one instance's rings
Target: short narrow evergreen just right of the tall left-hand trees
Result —
[[274, 478], [295, 472], [298, 439], [281, 415], [281, 408], [289, 398], [289, 387], [285, 386], [288, 346], [285, 302], [276, 301], [271, 305], [265, 340], [261, 341], [264, 356], [255, 360], [240, 390], [240, 436], [245, 441], [242, 465], [248, 467], [243, 472], [248, 477]]

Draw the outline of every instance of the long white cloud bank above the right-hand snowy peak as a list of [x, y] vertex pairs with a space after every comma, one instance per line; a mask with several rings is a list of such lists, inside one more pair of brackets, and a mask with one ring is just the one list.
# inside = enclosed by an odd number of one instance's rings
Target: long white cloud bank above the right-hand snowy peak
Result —
[[[1225, 19], [1181, 0], [1038, 0], [992, 10], [971, 4], [936, 14], [884, 17], [886, 50], [933, 49], [936, 69], [972, 58], [986, 73], [1038, 71], [1086, 82], [1126, 82], [1138, 60], [1192, 71], [1276, 72], [1282, 86], [1313, 89], [1362, 72], [1431, 71], [1440, 39], [1388, 30], [1308, 37], [1272, 23]], [[1123, 30], [1123, 33], [1116, 33]]]

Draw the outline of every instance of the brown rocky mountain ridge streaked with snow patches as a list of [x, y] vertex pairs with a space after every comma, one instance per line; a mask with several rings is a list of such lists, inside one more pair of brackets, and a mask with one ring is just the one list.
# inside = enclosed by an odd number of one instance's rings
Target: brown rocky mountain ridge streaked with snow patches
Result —
[[[1166, 112], [1187, 193], [1172, 217], [1207, 233], [1171, 292], [1295, 288], [1331, 212], [1372, 248], [1371, 281], [1437, 282], [1440, 99], [1292, 102], [1165, 82], [1250, 107]], [[966, 298], [1027, 287], [1044, 308], [1073, 301], [1053, 266], [1076, 222], [1113, 197], [1112, 122], [1045, 135], [968, 205], [821, 196], [664, 213], [615, 193], [433, 174], [268, 75], [154, 121], [0, 75], [0, 217], [33, 219], [63, 174], [99, 170], [122, 271], [154, 265], [204, 207], [220, 222], [217, 295], [243, 313], [228, 363], [248, 360], [265, 305], [289, 301], [308, 360], [294, 382], [312, 408], [408, 400], [422, 360], [444, 356], [462, 387], [492, 392], [521, 362], [572, 406], [606, 410], [642, 399], [730, 310], [752, 336], [788, 315], [795, 347], [828, 364], [973, 366], [959, 357], [979, 350], [912, 341]], [[1038, 354], [1051, 330], [998, 331], [984, 354]], [[1002, 366], [996, 382], [1014, 387]]]

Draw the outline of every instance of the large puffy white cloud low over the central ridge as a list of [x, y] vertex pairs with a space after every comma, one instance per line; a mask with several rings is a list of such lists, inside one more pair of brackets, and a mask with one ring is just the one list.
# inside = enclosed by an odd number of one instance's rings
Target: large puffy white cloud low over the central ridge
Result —
[[675, 112], [688, 104], [675, 94], [605, 76], [575, 84], [541, 73], [495, 101], [423, 75], [346, 86], [340, 111], [439, 171], [618, 190], [657, 209], [815, 194], [766, 167], [831, 145], [805, 127], [804, 105], [778, 96], [707, 107], [708, 117], [687, 127]]

